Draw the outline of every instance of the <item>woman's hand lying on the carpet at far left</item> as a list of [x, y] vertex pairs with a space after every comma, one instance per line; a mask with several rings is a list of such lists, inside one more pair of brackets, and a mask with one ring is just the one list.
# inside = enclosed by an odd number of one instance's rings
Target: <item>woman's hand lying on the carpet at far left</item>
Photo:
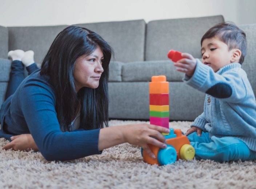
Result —
[[25, 150], [29, 151], [38, 150], [37, 145], [31, 134], [20, 134], [11, 137], [11, 142], [3, 146], [4, 150], [13, 149], [13, 150]]

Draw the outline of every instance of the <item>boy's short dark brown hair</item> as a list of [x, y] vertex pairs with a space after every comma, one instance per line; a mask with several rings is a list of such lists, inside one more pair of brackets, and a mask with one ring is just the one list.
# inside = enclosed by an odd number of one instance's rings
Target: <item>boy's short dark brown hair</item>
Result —
[[244, 62], [244, 57], [247, 53], [246, 35], [243, 30], [237, 27], [234, 23], [219, 23], [211, 27], [202, 37], [201, 46], [205, 39], [219, 37], [221, 41], [228, 45], [228, 50], [237, 48], [241, 51], [239, 63]]

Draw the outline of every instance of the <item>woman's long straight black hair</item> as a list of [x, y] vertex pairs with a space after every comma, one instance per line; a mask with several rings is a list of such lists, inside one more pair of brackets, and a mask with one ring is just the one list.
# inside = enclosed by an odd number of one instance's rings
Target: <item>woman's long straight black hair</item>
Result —
[[[99, 47], [104, 56], [99, 87], [83, 87], [76, 93], [73, 71], [76, 59], [90, 55]], [[61, 31], [49, 48], [41, 64], [40, 75], [50, 76], [56, 95], [55, 110], [62, 131], [71, 131], [72, 118], [79, 102], [80, 128], [86, 130], [108, 126], [108, 65], [112, 48], [97, 33], [89, 29], [69, 26]]]

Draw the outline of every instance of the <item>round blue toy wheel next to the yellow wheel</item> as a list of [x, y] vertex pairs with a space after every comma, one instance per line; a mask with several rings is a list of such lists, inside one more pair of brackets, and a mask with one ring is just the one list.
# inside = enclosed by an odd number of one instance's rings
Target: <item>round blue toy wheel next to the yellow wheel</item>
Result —
[[176, 149], [167, 144], [167, 147], [164, 149], [160, 149], [157, 154], [157, 160], [160, 165], [173, 164], [177, 159]]

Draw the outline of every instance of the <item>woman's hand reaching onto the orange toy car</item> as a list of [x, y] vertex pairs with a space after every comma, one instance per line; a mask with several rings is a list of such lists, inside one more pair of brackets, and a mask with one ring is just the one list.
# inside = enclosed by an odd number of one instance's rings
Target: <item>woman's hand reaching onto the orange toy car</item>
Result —
[[[138, 145], [145, 150], [153, 159], [155, 155], [149, 148], [148, 144], [166, 148], [165, 137], [161, 133], [169, 133], [170, 130], [162, 126], [149, 124], [131, 124], [125, 125], [124, 139], [133, 145]], [[154, 137], [154, 138], [153, 138]]]

